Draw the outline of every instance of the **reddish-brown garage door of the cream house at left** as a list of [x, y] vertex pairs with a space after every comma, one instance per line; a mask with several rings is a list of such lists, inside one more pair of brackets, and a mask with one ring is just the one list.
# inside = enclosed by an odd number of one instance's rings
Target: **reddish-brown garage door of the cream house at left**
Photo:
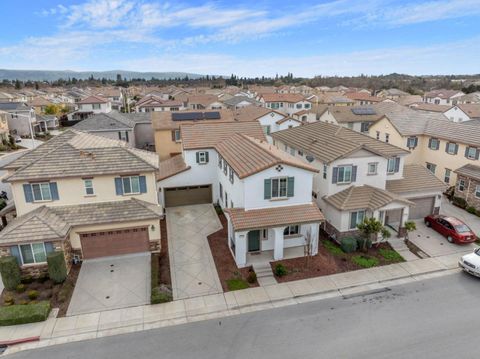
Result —
[[80, 241], [84, 259], [147, 252], [149, 250], [147, 227], [81, 233]]

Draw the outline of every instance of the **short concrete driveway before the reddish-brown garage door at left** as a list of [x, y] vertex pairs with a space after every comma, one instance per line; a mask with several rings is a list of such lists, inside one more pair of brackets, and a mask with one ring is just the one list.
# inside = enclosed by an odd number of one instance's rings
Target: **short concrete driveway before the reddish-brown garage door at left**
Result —
[[150, 303], [150, 253], [86, 260], [67, 316]]

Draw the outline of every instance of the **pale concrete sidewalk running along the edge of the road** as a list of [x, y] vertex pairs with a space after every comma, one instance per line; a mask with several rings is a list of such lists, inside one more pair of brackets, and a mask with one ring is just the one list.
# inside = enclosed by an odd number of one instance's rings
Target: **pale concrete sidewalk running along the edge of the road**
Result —
[[71, 341], [221, 318], [329, 297], [352, 295], [446, 275], [459, 271], [458, 259], [457, 254], [419, 259], [267, 287], [175, 300], [165, 304], [145, 305], [65, 318], [52, 317], [43, 323], [0, 327], [0, 338], [11, 340], [40, 336], [39, 342], [8, 348], [7, 352], [12, 353]]

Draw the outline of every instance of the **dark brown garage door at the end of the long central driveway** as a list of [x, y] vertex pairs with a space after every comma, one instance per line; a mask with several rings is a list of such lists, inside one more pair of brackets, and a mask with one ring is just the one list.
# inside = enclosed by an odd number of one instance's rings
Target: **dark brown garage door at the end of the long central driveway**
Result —
[[165, 188], [165, 207], [212, 203], [212, 186]]

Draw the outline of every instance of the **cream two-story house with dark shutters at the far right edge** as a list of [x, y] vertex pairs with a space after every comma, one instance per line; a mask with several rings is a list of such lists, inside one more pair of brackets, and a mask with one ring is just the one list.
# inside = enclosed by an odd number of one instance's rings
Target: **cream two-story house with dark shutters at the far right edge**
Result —
[[480, 127], [395, 103], [373, 106], [386, 116], [370, 126], [370, 136], [409, 150], [406, 163], [424, 166], [450, 185], [456, 182], [456, 169], [479, 163]]

